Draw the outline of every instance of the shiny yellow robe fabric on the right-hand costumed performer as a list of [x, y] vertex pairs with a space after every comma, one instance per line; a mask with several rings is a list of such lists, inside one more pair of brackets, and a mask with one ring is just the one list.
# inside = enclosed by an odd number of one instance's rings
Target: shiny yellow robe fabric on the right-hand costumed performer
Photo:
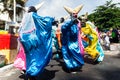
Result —
[[85, 48], [85, 52], [88, 53], [92, 59], [98, 57], [99, 52], [97, 51], [97, 43], [98, 43], [98, 35], [92, 26], [86, 22], [86, 26], [82, 27], [82, 32], [88, 36], [89, 38], [89, 45]]

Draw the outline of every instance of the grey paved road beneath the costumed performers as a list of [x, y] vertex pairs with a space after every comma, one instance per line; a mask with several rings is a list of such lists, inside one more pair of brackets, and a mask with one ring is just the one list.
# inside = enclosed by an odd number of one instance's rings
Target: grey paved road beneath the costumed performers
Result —
[[[100, 64], [93, 64], [86, 60], [82, 71], [71, 74], [65, 71], [62, 60], [51, 60], [39, 80], [120, 80], [119, 61], [120, 55], [106, 55]], [[0, 73], [0, 80], [24, 80], [24, 75], [13, 68]]]

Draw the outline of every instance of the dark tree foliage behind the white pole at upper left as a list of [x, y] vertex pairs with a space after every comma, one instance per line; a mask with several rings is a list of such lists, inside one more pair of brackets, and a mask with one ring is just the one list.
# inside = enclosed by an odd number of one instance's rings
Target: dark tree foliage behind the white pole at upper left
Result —
[[[20, 6], [25, 6], [25, 2], [27, 0], [16, 0], [16, 4]], [[14, 0], [0, 0], [0, 3], [3, 3], [3, 10], [0, 10], [2, 13], [3, 12], [8, 12], [9, 17], [13, 19], [13, 7], [14, 7]], [[19, 15], [22, 11], [22, 8], [16, 7], [16, 15]]]

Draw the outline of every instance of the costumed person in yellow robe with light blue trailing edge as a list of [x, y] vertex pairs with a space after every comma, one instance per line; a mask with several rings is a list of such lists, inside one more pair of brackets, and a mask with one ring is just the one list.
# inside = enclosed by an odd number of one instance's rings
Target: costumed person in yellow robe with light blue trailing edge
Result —
[[88, 21], [88, 13], [80, 17], [82, 21], [82, 32], [86, 35], [88, 46], [85, 46], [85, 52], [91, 56], [95, 62], [101, 62], [104, 58], [104, 52], [99, 42], [99, 35], [96, 26]]

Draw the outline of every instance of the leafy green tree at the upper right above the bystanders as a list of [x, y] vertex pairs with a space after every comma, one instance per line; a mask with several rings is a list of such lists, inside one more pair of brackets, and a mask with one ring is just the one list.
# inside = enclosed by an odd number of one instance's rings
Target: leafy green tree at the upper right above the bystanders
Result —
[[88, 19], [94, 21], [96, 26], [103, 29], [120, 27], [120, 3], [112, 3], [112, 0], [106, 1], [104, 5], [98, 6], [94, 13], [88, 16]]

